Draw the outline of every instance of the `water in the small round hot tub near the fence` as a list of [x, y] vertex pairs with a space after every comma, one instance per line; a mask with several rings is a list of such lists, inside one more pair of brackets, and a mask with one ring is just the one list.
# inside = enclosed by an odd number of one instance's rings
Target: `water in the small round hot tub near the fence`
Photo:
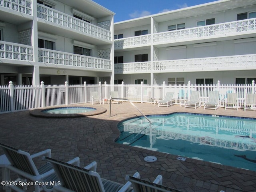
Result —
[[58, 107], [42, 110], [43, 113], [48, 114], [77, 114], [95, 111], [95, 108], [91, 107]]

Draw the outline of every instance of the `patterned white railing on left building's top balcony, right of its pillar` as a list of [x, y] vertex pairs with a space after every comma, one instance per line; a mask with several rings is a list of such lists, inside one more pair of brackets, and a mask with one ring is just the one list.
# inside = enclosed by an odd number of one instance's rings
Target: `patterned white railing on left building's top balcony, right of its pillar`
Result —
[[41, 4], [37, 4], [37, 17], [97, 38], [111, 40], [110, 31]]

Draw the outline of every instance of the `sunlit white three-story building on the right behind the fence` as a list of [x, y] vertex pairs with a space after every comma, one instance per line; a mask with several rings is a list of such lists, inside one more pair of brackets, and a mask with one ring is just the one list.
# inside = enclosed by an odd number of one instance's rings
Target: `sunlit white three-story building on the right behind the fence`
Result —
[[256, 0], [218, 0], [114, 24], [115, 83], [256, 82]]

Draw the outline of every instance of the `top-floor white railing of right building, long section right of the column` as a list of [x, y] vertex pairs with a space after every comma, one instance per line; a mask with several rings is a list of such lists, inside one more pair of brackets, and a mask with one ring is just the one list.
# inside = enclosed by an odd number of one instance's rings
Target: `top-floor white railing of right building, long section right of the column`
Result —
[[231, 33], [248, 32], [251, 30], [256, 30], [256, 18], [156, 33], [153, 34], [153, 43], [170, 43], [190, 38], [209, 38], [210, 36], [214, 38], [214, 36], [228, 36]]

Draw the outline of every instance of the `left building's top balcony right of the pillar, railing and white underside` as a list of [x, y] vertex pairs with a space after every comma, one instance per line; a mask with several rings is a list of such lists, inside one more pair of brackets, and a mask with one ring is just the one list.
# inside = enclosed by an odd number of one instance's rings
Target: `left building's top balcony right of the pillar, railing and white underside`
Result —
[[[112, 38], [109, 30], [47, 6], [37, 4], [37, 18], [42, 19], [38, 20], [38, 30], [40, 31], [51, 32], [68, 38], [76, 36], [80, 40], [86, 39], [86, 42], [96, 45], [104, 44], [104, 41], [111, 43]], [[91, 38], [88, 38], [88, 36]]]

